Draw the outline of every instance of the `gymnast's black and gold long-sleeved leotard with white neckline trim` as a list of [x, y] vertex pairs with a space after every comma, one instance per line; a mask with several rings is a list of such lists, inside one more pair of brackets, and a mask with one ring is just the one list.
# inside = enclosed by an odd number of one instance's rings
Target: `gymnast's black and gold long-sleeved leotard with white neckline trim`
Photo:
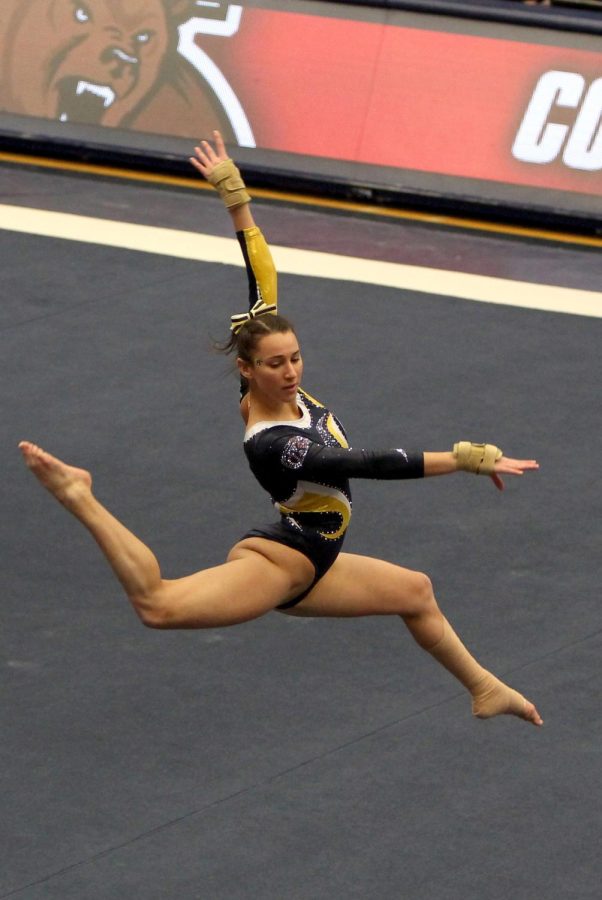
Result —
[[[276, 271], [269, 248], [256, 227], [238, 233], [247, 274], [249, 300], [276, 303]], [[341, 423], [305, 391], [299, 390], [300, 418], [258, 422], [245, 433], [251, 471], [269, 493], [280, 519], [244, 537], [277, 541], [303, 553], [315, 569], [312, 585], [280, 608], [299, 603], [332, 566], [351, 520], [350, 478], [400, 479], [424, 475], [422, 453], [353, 450]]]

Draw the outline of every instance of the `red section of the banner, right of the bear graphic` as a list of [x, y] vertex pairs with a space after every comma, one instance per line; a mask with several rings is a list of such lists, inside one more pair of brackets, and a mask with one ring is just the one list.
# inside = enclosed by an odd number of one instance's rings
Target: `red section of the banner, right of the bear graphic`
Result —
[[[600, 54], [262, 9], [246, 10], [228, 41], [197, 40], [228, 74], [259, 147], [602, 194]], [[526, 161], [513, 146], [549, 72], [561, 73], [558, 86], [532, 111], [531, 142], [550, 124], [563, 139], [549, 161]], [[582, 90], [561, 106], [566, 75]], [[567, 163], [564, 146], [592, 91], [584, 159]]]

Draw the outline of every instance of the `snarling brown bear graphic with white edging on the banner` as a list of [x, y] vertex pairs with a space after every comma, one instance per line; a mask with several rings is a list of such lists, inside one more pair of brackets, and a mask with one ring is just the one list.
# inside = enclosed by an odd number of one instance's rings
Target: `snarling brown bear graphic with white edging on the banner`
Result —
[[[202, 15], [200, 14], [202, 13]], [[234, 34], [242, 7], [198, 0], [0, 0], [0, 109], [254, 146], [195, 35]]]

